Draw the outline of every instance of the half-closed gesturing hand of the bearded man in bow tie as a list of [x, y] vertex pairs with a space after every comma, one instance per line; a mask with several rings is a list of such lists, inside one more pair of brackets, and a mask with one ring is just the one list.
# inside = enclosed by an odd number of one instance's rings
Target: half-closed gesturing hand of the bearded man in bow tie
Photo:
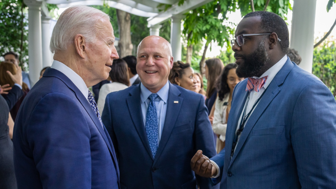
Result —
[[212, 177], [217, 175], [217, 168], [210, 162], [210, 159], [202, 154], [202, 150], [197, 151], [190, 162], [191, 169], [201, 177]]

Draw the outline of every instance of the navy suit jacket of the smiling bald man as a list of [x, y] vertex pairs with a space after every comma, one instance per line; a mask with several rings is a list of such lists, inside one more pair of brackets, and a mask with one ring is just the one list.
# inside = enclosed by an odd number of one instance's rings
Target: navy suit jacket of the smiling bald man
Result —
[[167, 113], [155, 158], [140, 103], [140, 85], [134, 85], [110, 93], [103, 110], [102, 121], [119, 160], [121, 188], [196, 189], [196, 182], [201, 189], [211, 188], [210, 179], [196, 178], [190, 166], [199, 149], [209, 157], [216, 154], [204, 97], [169, 83]]

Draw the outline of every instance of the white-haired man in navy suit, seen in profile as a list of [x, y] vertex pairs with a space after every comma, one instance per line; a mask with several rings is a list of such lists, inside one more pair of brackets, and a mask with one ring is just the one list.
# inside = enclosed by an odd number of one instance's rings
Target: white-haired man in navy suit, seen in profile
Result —
[[51, 37], [51, 68], [30, 90], [14, 126], [17, 187], [118, 189], [119, 169], [88, 87], [107, 79], [118, 53], [110, 17], [66, 9]]

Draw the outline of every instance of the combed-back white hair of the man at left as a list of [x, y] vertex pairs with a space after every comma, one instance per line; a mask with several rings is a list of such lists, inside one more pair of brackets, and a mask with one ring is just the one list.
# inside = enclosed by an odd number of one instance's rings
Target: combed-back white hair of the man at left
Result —
[[74, 37], [77, 34], [82, 34], [87, 43], [94, 43], [97, 31], [95, 25], [100, 19], [110, 21], [110, 16], [101, 10], [84, 5], [67, 8], [59, 16], [52, 31], [51, 52], [67, 50], [68, 45], [74, 42]]

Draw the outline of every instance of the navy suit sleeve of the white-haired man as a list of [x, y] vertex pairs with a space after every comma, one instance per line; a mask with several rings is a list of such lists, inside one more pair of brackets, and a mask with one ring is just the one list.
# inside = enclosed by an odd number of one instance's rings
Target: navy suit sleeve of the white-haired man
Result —
[[43, 188], [91, 188], [91, 135], [74, 100], [61, 93], [46, 95], [24, 133]]

